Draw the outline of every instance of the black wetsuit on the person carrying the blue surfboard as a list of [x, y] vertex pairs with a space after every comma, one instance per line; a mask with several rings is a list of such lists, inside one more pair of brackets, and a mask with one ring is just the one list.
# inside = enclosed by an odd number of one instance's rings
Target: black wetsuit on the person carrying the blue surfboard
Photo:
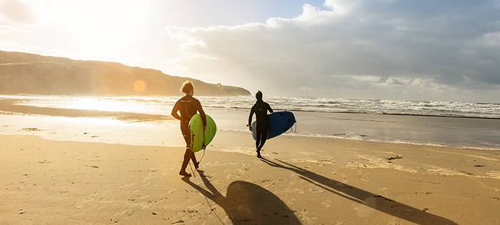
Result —
[[260, 151], [262, 149], [262, 146], [264, 146], [264, 143], [266, 143], [267, 125], [268, 125], [267, 111], [272, 113], [273, 109], [271, 109], [271, 106], [269, 106], [269, 104], [267, 104], [262, 100], [258, 100], [256, 104], [254, 104], [254, 106], [251, 107], [249, 116], [249, 125], [251, 125], [251, 118], [255, 114], [256, 116], [255, 146], [257, 148], [257, 151]]

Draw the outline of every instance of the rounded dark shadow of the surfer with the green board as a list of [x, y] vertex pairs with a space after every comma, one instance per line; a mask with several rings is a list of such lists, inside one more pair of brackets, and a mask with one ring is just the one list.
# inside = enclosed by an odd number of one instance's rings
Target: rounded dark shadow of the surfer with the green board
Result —
[[209, 191], [184, 177], [182, 180], [222, 207], [233, 224], [301, 224], [281, 199], [270, 191], [246, 181], [234, 181], [226, 196], [210, 183], [204, 171], [198, 170]]

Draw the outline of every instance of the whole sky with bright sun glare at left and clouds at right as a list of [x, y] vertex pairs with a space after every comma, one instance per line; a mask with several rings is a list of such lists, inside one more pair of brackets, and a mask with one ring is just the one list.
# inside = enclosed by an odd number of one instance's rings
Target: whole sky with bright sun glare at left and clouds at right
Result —
[[500, 103], [500, 0], [0, 0], [0, 50], [265, 96]]

